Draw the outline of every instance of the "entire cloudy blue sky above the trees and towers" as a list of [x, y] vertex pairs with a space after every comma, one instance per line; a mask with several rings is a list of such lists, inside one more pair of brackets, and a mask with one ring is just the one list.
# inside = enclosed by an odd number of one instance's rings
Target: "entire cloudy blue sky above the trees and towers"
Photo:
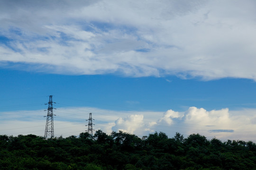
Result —
[[[255, 0], [1, 0], [0, 135], [256, 142]], [[46, 104], [46, 105], [45, 105]]]

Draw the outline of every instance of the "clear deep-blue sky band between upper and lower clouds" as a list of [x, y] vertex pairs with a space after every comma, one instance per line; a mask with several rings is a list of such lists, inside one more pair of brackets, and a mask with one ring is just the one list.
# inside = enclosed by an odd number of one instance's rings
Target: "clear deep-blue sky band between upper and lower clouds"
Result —
[[255, 82], [250, 79], [201, 81], [175, 76], [71, 76], [11, 69], [2, 69], [1, 77], [3, 111], [19, 110], [18, 105], [47, 102], [48, 94], [54, 95], [54, 101], [60, 104], [110, 110], [166, 111], [172, 108], [183, 111], [190, 106], [237, 110], [256, 107]]

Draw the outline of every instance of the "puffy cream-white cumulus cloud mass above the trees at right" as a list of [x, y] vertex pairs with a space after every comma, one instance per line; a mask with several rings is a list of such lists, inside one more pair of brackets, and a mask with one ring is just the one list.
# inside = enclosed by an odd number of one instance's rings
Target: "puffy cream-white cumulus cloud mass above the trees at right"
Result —
[[190, 107], [184, 112], [167, 110], [164, 113], [155, 114], [150, 118], [151, 121], [143, 119], [142, 115], [139, 119], [138, 115], [119, 118], [116, 126], [119, 125], [122, 128], [115, 126], [113, 130], [122, 129], [139, 136], [162, 131], [170, 137], [180, 132], [184, 136], [199, 133], [209, 139], [217, 137], [222, 140], [255, 140], [254, 131], [251, 130], [256, 128], [254, 112], [253, 109], [230, 111], [226, 108], [208, 111]]

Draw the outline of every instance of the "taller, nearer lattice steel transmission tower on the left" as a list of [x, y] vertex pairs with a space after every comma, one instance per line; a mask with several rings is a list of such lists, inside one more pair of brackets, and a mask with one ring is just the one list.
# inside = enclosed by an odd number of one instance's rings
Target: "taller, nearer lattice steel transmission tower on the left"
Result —
[[[45, 139], [54, 137], [53, 116], [56, 116], [56, 115], [53, 114], [53, 109], [54, 109], [53, 103], [55, 103], [55, 102], [53, 102], [53, 95], [50, 95], [49, 102], [48, 102], [48, 109], [47, 109]], [[44, 116], [44, 117], [46, 117], [46, 116]]]

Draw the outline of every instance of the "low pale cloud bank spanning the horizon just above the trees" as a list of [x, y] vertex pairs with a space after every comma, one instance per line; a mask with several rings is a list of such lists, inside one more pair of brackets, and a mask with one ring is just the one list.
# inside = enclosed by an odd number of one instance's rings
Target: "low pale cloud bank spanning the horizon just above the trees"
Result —
[[[123, 131], [137, 136], [164, 132], [173, 137], [176, 132], [184, 136], [199, 133], [211, 139], [256, 140], [255, 109], [230, 111], [229, 109], [205, 110], [190, 107], [184, 112], [115, 111], [89, 107], [59, 108], [55, 111], [55, 136], [79, 135], [86, 130], [86, 112], [93, 111], [95, 130], [110, 134]], [[72, 113], [72, 115], [70, 115]], [[0, 135], [35, 134], [44, 136], [46, 119], [42, 111], [1, 112]], [[33, 121], [32, 121], [33, 120]]]

